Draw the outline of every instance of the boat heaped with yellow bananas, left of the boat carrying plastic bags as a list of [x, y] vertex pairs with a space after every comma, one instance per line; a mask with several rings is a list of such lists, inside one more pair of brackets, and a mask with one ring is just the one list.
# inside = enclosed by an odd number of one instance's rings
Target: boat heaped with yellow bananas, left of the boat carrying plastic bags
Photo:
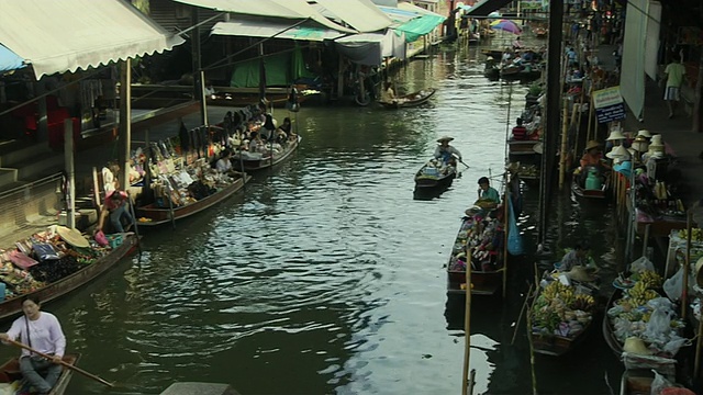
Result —
[[549, 276], [533, 303], [532, 342], [535, 352], [559, 357], [592, 327], [595, 300], [591, 287], [565, 280], [566, 275], [559, 272]]

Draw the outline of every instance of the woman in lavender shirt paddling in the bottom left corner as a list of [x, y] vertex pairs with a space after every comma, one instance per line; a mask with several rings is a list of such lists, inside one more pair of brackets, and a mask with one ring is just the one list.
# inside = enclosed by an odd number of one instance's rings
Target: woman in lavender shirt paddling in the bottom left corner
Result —
[[0, 334], [0, 340], [7, 343], [8, 340], [21, 339], [34, 350], [53, 356], [49, 360], [22, 349], [20, 357], [20, 371], [24, 379], [36, 394], [48, 394], [63, 372], [60, 362], [66, 350], [66, 337], [56, 316], [41, 311], [36, 296], [24, 296], [22, 312], [24, 316], [15, 319], [5, 334]]

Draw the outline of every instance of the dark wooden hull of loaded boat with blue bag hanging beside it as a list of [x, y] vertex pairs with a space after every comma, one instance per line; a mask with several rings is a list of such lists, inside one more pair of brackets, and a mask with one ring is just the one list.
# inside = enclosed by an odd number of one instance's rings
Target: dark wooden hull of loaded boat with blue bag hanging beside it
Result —
[[[457, 256], [466, 253], [466, 228], [470, 217], [464, 217], [457, 234], [449, 262], [447, 264], [447, 294], [466, 294], [466, 270], [456, 270]], [[470, 264], [470, 263], [469, 263]], [[472, 295], [494, 295], [502, 290], [505, 281], [505, 270], [479, 271], [471, 270], [471, 294]]]

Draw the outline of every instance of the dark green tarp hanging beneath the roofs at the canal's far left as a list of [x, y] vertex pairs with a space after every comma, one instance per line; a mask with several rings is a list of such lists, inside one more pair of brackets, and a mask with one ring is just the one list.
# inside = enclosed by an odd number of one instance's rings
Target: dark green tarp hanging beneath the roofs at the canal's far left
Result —
[[[259, 59], [237, 63], [232, 71], [230, 87], [257, 88], [259, 86]], [[305, 68], [302, 50], [269, 55], [264, 58], [267, 87], [288, 87], [301, 77], [315, 77]]]

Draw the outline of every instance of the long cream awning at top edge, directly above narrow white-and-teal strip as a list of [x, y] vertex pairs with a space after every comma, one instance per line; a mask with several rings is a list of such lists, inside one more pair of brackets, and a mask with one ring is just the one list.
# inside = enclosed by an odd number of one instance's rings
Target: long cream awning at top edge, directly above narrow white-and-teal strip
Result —
[[175, 0], [183, 4], [207, 8], [216, 11], [226, 11], [244, 15], [274, 16], [286, 19], [311, 19], [321, 25], [344, 33], [357, 33], [352, 29], [336, 24], [305, 0]]

